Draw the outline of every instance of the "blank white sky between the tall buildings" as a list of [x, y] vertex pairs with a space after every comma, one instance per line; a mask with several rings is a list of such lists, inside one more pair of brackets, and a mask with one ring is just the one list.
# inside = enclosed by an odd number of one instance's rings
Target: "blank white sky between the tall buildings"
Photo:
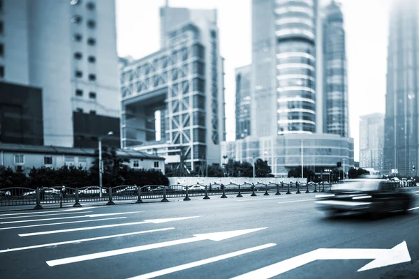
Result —
[[[328, 3], [328, 0], [321, 0]], [[359, 158], [360, 116], [385, 113], [389, 0], [340, 0], [346, 30], [350, 135]], [[117, 0], [119, 56], [159, 50], [159, 8], [165, 0]], [[235, 137], [235, 68], [251, 63], [251, 0], [170, 0], [170, 6], [216, 8], [226, 72], [227, 140]]]

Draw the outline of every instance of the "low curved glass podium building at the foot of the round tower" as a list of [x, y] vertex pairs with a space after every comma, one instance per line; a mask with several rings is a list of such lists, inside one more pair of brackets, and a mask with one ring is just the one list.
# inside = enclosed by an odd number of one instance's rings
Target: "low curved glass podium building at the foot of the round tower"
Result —
[[221, 154], [228, 160], [247, 161], [253, 158], [267, 160], [276, 177], [287, 177], [295, 167], [308, 167], [317, 176], [328, 178], [329, 169], [342, 163], [345, 172], [353, 167], [353, 139], [332, 134], [287, 134], [281, 137], [247, 137], [235, 142], [223, 142]]

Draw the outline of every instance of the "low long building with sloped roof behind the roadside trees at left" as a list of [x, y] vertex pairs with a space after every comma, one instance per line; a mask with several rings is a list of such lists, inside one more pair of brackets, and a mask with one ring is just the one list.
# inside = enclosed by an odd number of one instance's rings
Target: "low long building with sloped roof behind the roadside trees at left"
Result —
[[[164, 158], [135, 150], [118, 149], [117, 156], [129, 160], [133, 169], [159, 169], [164, 174]], [[0, 165], [29, 173], [32, 167], [59, 168], [64, 165], [89, 169], [96, 159], [95, 149], [58, 146], [0, 144]]]

